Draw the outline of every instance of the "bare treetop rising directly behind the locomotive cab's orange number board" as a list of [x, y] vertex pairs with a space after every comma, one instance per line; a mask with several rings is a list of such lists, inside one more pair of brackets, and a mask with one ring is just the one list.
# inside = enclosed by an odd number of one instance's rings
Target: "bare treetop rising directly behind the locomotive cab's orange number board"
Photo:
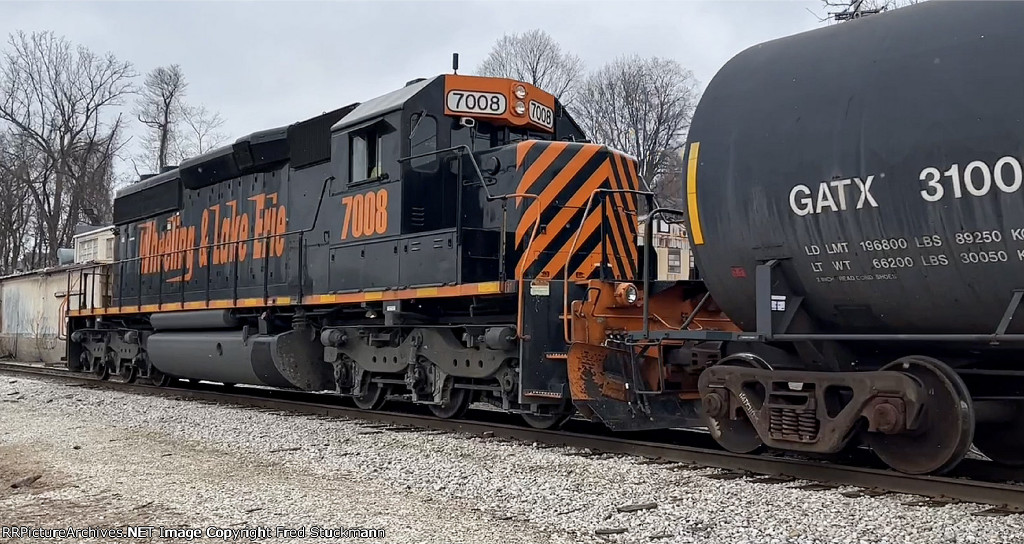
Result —
[[584, 65], [579, 56], [562, 51], [548, 33], [531, 30], [499, 38], [476, 72], [536, 85], [567, 107], [584, 78]]

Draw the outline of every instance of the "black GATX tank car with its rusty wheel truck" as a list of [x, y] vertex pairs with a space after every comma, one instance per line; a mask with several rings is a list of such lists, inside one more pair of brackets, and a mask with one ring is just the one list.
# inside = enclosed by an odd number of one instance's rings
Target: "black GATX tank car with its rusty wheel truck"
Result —
[[[646, 413], [690, 369], [679, 394], [733, 452], [1024, 464], [1022, 30], [1021, 2], [925, 2], [729, 60], [685, 150], [707, 292], [644, 289], [614, 343], [573, 343], [573, 399], [634, 368], [623, 404]], [[607, 300], [573, 302], [578, 334]], [[742, 332], [663, 319], [694, 301]]]

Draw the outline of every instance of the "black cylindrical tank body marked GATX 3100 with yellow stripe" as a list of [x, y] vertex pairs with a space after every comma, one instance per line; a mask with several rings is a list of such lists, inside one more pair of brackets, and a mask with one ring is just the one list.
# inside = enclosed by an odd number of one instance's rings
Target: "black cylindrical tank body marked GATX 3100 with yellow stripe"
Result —
[[777, 259], [773, 289], [803, 297], [811, 332], [996, 330], [1024, 289], [1022, 22], [1024, 2], [925, 2], [719, 71], [685, 197], [697, 268], [737, 325], [755, 328], [755, 267]]

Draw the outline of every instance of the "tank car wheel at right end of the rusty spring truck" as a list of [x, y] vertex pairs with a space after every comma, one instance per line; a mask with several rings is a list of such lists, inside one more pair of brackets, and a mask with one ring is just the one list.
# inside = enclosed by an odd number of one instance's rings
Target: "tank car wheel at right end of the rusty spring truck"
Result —
[[865, 432], [864, 443], [900, 472], [941, 474], [956, 466], [974, 437], [974, 405], [964, 380], [941, 361], [921, 355], [898, 359], [882, 370], [903, 372], [921, 382], [923, 419], [909, 432]]

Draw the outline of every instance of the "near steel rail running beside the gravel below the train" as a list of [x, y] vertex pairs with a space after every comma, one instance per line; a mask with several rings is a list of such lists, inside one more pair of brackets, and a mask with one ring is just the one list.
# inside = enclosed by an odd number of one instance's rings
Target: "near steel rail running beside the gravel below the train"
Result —
[[[939, 500], [1001, 506], [1013, 510], [1024, 509], [1024, 485], [1018, 486], [949, 476], [905, 474], [887, 469], [827, 464], [803, 459], [777, 458], [763, 455], [734, 454], [723, 450], [667, 445], [580, 432], [542, 430], [498, 422], [442, 419], [427, 415], [388, 411], [366, 411], [356, 408], [285, 397], [316, 396], [316, 393], [301, 391], [293, 395], [291, 394], [293, 391], [249, 387], [244, 388], [245, 392], [242, 392], [243, 388], [240, 387], [233, 388], [230, 392], [226, 392], [221, 388], [200, 389], [175, 387], [173, 385], [157, 387], [142, 383], [99, 380], [95, 377], [90, 377], [88, 374], [79, 374], [68, 370], [3, 362], [0, 362], [0, 373], [42, 376], [56, 381], [89, 383], [132, 393], [155, 394], [174, 399], [280, 410], [298, 414], [355, 419], [396, 426], [413, 426], [527, 443], [536, 442], [549, 446], [586, 448], [602, 453], [644, 457], [665, 462], [687, 463], [752, 474], [788, 476], [797, 479], [884, 490], [891, 493], [903, 493]], [[275, 397], [279, 394], [282, 397]], [[323, 397], [323, 395], [319, 396]], [[492, 414], [500, 413], [495, 412]]]

